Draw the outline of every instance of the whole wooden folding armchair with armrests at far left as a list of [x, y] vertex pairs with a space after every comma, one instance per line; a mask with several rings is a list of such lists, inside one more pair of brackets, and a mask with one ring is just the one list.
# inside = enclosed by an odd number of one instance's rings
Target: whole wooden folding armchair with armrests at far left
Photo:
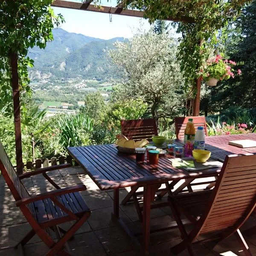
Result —
[[[37, 234], [49, 247], [47, 255], [71, 255], [63, 247], [66, 246], [67, 241], [73, 237], [76, 230], [90, 216], [90, 209], [79, 193], [79, 191], [86, 190], [86, 186], [77, 185], [61, 189], [46, 174], [46, 172], [69, 166], [70, 164], [62, 164], [38, 169], [18, 176], [0, 142], [0, 171], [15, 198], [16, 205], [20, 207], [21, 212], [32, 227], [32, 230], [24, 236], [15, 248], [19, 245], [23, 247]], [[21, 180], [38, 174], [44, 175], [57, 189], [38, 195], [29, 195]], [[76, 222], [67, 231], [58, 226], [59, 224], [74, 220]], [[50, 230], [55, 231], [59, 239], [57, 242], [50, 236]], [[63, 234], [62, 236], [61, 233]]]

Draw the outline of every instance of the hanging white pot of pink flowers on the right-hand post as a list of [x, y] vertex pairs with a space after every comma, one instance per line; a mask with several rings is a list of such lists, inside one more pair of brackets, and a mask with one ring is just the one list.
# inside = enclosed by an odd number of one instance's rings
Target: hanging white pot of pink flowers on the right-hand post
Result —
[[234, 70], [234, 66], [236, 66], [235, 61], [223, 59], [222, 55], [218, 54], [207, 60], [200, 70], [200, 75], [207, 85], [215, 86], [219, 80], [227, 80], [230, 77], [234, 78], [235, 73], [241, 75], [241, 70]]

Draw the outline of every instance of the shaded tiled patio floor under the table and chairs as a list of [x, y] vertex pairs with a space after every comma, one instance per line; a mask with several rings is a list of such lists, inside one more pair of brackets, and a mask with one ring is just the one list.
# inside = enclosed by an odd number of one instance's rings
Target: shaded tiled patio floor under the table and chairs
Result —
[[[135, 256], [137, 255], [133, 244], [127, 239], [119, 227], [111, 221], [111, 212], [113, 206], [113, 192], [102, 192], [88, 175], [79, 167], [53, 171], [49, 176], [60, 186], [72, 186], [83, 183], [87, 186], [87, 191], [82, 192], [82, 196], [87, 205], [92, 210], [91, 216], [76, 233], [75, 239], [69, 242], [73, 255], [87, 256]], [[23, 180], [26, 188], [31, 194], [38, 194], [53, 190], [43, 176], [28, 178]], [[128, 193], [128, 190], [120, 190], [120, 201]], [[163, 198], [162, 200], [166, 200]], [[138, 221], [137, 213], [133, 204], [127, 206], [120, 205], [120, 215], [133, 230], [141, 227]], [[168, 225], [173, 221], [171, 211], [168, 207], [154, 209], [151, 211], [151, 225]], [[252, 217], [244, 225], [244, 228], [256, 225], [256, 220]], [[6, 186], [2, 176], [0, 176], [0, 256], [17, 255], [13, 248], [25, 233], [29, 231], [29, 224], [15, 207], [14, 199]], [[242, 229], [242, 230], [243, 230]], [[245, 237], [253, 255], [256, 255], [256, 235]], [[180, 241], [180, 233], [177, 228], [162, 233], [153, 233], [151, 235], [151, 256], [167, 256], [169, 248]], [[234, 236], [220, 242], [212, 250], [203, 244], [193, 246], [198, 256], [235, 256], [243, 255], [241, 247]], [[26, 255], [41, 256], [47, 252], [47, 247], [38, 237], [34, 237], [25, 246]], [[184, 251], [180, 256], [188, 255]]]

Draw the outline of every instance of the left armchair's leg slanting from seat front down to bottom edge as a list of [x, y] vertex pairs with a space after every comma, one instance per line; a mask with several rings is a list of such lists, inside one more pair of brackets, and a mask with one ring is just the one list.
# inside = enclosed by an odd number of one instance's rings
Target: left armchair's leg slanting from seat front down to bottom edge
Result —
[[[47, 256], [54, 256], [55, 254], [62, 255], [61, 248], [64, 246], [64, 244], [70, 239], [71, 236], [76, 232], [76, 230], [81, 227], [82, 224], [84, 224], [85, 221], [90, 217], [90, 212], [86, 212], [76, 223], [70, 227], [70, 229], [67, 231], [67, 233], [61, 237], [61, 239], [54, 244], [54, 246], [49, 250], [47, 253]], [[69, 254], [67, 254], [69, 255]]]

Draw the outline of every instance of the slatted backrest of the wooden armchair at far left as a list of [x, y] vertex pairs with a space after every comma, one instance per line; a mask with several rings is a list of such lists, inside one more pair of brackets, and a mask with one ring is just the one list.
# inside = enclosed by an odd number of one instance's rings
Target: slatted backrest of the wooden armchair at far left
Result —
[[18, 201], [22, 198], [28, 198], [29, 192], [27, 192], [23, 183], [20, 181], [20, 178], [15, 172], [15, 169], [12, 166], [9, 157], [6, 154], [6, 151], [3, 148], [2, 143], [0, 142], [0, 171], [6, 180], [9, 189], [15, 199]]

